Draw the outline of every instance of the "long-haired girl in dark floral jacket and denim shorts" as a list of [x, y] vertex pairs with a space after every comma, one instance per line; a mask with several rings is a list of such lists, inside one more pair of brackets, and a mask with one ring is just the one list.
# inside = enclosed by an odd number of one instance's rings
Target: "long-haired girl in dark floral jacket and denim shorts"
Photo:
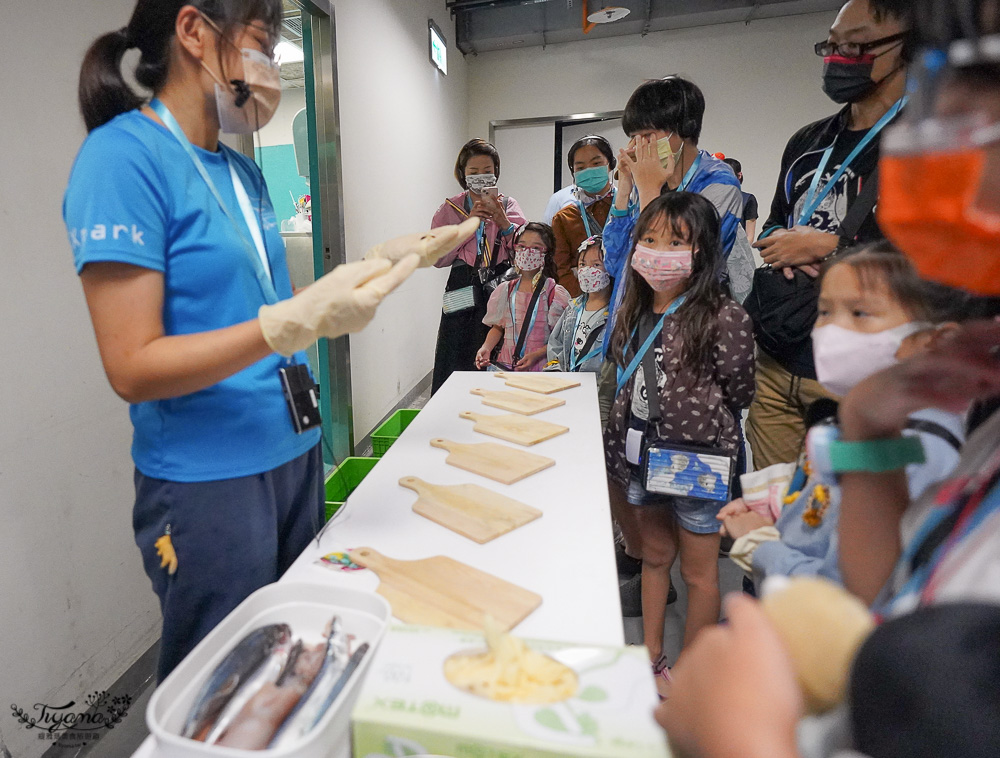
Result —
[[[644, 642], [657, 684], [664, 686], [664, 612], [678, 555], [688, 589], [684, 644], [719, 618], [715, 517], [723, 503], [647, 491], [641, 451], [647, 441], [668, 440], [735, 455], [740, 412], [754, 391], [753, 329], [719, 283], [719, 234], [718, 213], [701, 195], [671, 192], [646, 206], [636, 221], [625, 294], [609, 341], [608, 359], [616, 370], [602, 371], [602, 387], [610, 378], [615, 389], [605, 432], [612, 511], [626, 553], [642, 561], [639, 578], [623, 587], [623, 608], [635, 605], [638, 590]], [[641, 368], [637, 358], [655, 367], [655, 385], [647, 385], [645, 376], [653, 369]]]

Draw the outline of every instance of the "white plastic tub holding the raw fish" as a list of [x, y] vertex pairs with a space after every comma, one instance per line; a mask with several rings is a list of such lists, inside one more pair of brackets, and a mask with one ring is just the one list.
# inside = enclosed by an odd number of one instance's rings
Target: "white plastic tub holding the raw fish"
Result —
[[[354, 648], [367, 642], [371, 649], [333, 707], [300, 742], [284, 750], [239, 750], [180, 736], [205, 679], [249, 632], [284, 622], [296, 637], [315, 644], [322, 641], [323, 629], [334, 614], [354, 636]], [[181, 661], [150, 698], [146, 725], [156, 738], [157, 758], [327, 758], [334, 753], [349, 754], [351, 710], [391, 615], [389, 603], [374, 592], [304, 582], [279, 582], [257, 590]]]

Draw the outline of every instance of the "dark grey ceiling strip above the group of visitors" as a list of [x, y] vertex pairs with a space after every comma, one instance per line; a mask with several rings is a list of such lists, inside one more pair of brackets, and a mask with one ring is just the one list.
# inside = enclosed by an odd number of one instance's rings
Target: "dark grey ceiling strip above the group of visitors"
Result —
[[[835, 11], [845, 0], [586, 0], [587, 12], [613, 6], [630, 13], [583, 32], [585, 0], [448, 0], [463, 54], [544, 47], [555, 42], [645, 35], [665, 29]], [[831, 21], [833, 17], [831, 15]]]

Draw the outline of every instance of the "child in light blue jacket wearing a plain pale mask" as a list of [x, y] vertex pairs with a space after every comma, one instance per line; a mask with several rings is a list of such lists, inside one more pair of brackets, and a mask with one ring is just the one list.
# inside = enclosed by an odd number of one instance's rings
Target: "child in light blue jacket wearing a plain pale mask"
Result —
[[[813, 352], [819, 381], [844, 396], [863, 379], [899, 361], [933, 349], [965, 320], [973, 308], [964, 293], [920, 281], [913, 266], [889, 249], [847, 254], [820, 280], [819, 317]], [[793, 492], [775, 521], [773, 513], [750, 510], [742, 500], [719, 513], [735, 540], [729, 557], [760, 586], [767, 576], [822, 576], [840, 582], [837, 524], [835, 404], [814, 419], [806, 452], [793, 477]], [[918, 498], [951, 473], [964, 442], [963, 414], [926, 408], [911, 414], [903, 436], [914, 441], [906, 467], [907, 489]], [[919, 441], [919, 442], [917, 442]], [[920, 515], [906, 516], [912, 535]], [[904, 537], [904, 542], [906, 541]]]

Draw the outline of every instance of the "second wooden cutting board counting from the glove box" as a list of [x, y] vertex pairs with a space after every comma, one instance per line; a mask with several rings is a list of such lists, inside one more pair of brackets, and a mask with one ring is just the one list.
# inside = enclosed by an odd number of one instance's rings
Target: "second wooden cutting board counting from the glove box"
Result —
[[414, 513], [480, 545], [542, 515], [537, 508], [476, 484], [428, 484], [415, 476], [404, 476], [399, 484], [420, 495]]

